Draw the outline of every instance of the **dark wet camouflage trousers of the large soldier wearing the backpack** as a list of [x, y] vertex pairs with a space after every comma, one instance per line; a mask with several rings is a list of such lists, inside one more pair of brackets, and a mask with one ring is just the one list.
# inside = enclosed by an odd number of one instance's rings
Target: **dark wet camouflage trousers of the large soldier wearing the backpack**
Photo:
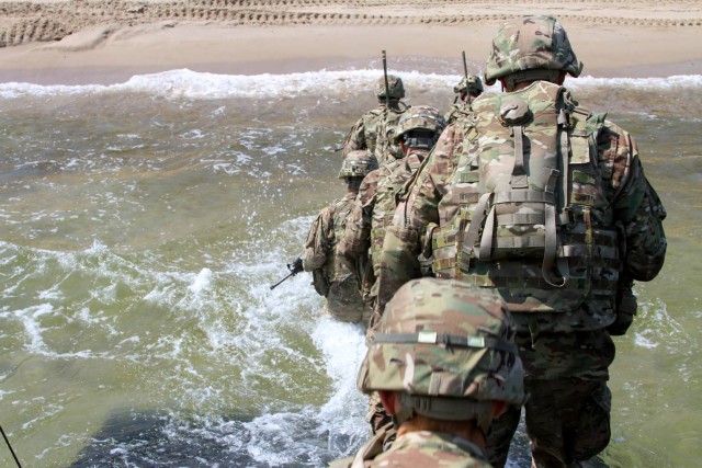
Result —
[[[526, 435], [536, 468], [578, 467], [602, 452], [610, 441], [611, 392], [608, 367], [614, 344], [605, 331], [548, 333], [534, 338], [518, 333], [524, 364]], [[547, 363], [552, 362], [552, 370]], [[556, 370], [553, 370], [553, 369]], [[534, 378], [552, 374], [554, 378]], [[509, 445], [521, 411], [510, 408], [492, 422], [487, 435], [490, 464], [507, 463]]]

